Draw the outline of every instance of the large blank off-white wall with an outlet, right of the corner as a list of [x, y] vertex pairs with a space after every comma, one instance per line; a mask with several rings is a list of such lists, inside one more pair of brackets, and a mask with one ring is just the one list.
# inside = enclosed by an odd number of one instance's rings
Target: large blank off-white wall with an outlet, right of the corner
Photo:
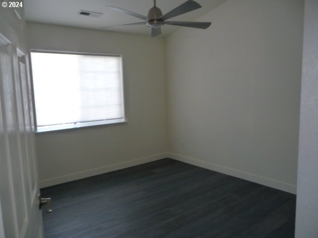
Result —
[[296, 192], [303, 4], [229, 0], [166, 39], [170, 157]]

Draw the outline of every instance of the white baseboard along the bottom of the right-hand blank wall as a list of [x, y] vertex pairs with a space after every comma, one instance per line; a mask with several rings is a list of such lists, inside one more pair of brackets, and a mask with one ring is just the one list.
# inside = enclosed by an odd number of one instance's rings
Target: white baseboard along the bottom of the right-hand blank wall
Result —
[[202, 160], [197, 160], [197, 159], [193, 159], [190, 157], [177, 155], [177, 154], [173, 154], [173, 153], [167, 153], [167, 157], [174, 159], [174, 160], [178, 160], [178, 161], [187, 163], [187, 164], [202, 167], [202, 168], [205, 168], [208, 170], [213, 170], [215, 172], [219, 172], [222, 174], [234, 176], [234, 177], [237, 177], [239, 179], [245, 179], [245, 180], [256, 182], [256, 183], [259, 183], [259, 184], [262, 184], [265, 186], [273, 187], [273, 188], [276, 188], [276, 189], [279, 189], [279, 190], [282, 190], [285, 192], [290, 192], [290, 193], [296, 194], [296, 186], [293, 184], [289, 184], [289, 183], [285, 183], [282, 181], [277, 181], [274, 179], [261, 177], [261, 176], [254, 175], [254, 174], [249, 174], [249, 173], [246, 173], [244, 171], [235, 170], [232, 168], [212, 164], [212, 163], [205, 162]]

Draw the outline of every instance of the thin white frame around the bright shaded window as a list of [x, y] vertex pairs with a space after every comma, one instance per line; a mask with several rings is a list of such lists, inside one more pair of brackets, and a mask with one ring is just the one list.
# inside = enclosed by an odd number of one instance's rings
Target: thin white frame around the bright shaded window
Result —
[[[51, 53], [51, 54], [65, 54], [65, 55], [80, 55], [80, 56], [105, 56], [105, 57], [119, 57], [120, 58], [120, 78], [121, 78], [121, 97], [122, 97], [122, 110], [123, 118], [121, 119], [104, 119], [104, 120], [95, 120], [95, 121], [82, 121], [82, 122], [73, 122], [66, 124], [57, 124], [57, 125], [48, 125], [38, 128], [37, 119], [36, 119], [36, 108], [35, 108], [35, 94], [34, 94], [34, 83], [33, 83], [33, 71], [32, 71], [32, 60], [31, 53]], [[31, 88], [32, 88], [32, 106], [33, 106], [33, 115], [34, 115], [34, 127], [35, 133], [46, 133], [51, 131], [63, 131], [63, 130], [73, 130], [85, 127], [92, 126], [114, 126], [120, 124], [126, 124], [128, 122], [126, 116], [126, 101], [125, 101], [125, 79], [124, 79], [124, 66], [123, 66], [123, 55], [121, 54], [106, 54], [106, 53], [88, 53], [88, 52], [73, 52], [73, 51], [54, 51], [54, 50], [38, 50], [30, 49], [29, 51], [29, 67], [30, 67], [30, 78], [31, 78]], [[46, 128], [44, 128], [46, 127]]]

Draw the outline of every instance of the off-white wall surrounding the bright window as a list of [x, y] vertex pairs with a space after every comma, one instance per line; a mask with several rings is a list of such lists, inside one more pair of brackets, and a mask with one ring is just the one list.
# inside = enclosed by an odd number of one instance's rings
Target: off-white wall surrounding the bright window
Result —
[[122, 54], [124, 65], [128, 123], [37, 134], [42, 187], [165, 157], [163, 39], [34, 23], [27, 32], [30, 49]]

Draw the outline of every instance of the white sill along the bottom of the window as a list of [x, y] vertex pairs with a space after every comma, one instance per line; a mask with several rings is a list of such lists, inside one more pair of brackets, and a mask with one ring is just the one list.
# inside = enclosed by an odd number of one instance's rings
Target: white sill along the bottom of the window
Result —
[[80, 122], [80, 123], [70, 123], [70, 124], [61, 124], [53, 126], [41, 126], [37, 128], [36, 134], [51, 132], [51, 131], [64, 131], [64, 130], [73, 130], [79, 128], [86, 128], [92, 126], [113, 126], [118, 124], [126, 124], [126, 119], [114, 119], [114, 120], [100, 120], [100, 121], [90, 121], [90, 122]]

